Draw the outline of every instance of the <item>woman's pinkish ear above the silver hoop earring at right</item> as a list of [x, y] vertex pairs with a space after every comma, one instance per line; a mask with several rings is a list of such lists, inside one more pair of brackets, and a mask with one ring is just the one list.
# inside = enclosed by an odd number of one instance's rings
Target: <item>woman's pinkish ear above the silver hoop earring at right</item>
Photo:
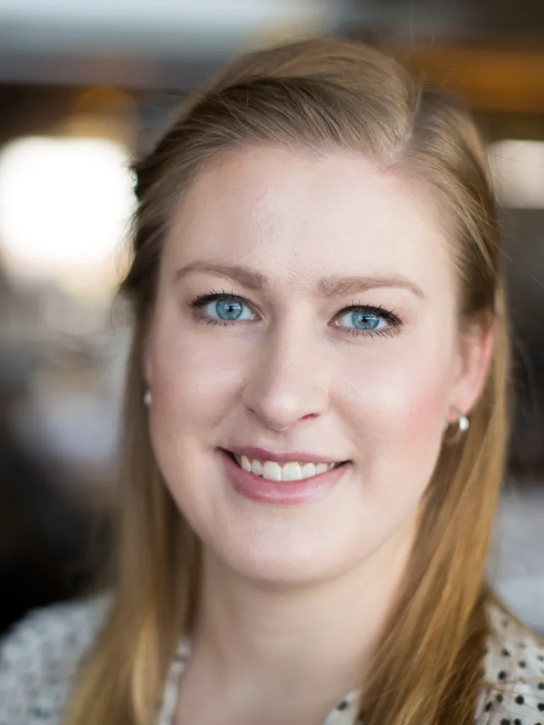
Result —
[[458, 358], [450, 395], [448, 423], [468, 415], [485, 386], [495, 342], [493, 314], [468, 323], [459, 333]]

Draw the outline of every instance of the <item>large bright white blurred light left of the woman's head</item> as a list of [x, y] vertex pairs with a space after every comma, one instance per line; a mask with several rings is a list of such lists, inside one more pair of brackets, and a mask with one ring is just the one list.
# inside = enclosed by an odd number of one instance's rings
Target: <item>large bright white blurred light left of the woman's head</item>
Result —
[[134, 209], [128, 152], [106, 138], [19, 138], [0, 153], [0, 249], [12, 275], [80, 294], [115, 284]]

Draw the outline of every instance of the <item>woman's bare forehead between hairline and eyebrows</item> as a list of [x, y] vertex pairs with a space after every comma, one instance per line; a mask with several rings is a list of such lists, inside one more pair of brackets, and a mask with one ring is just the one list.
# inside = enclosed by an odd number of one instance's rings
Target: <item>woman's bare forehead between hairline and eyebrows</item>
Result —
[[421, 188], [354, 152], [279, 147], [231, 152], [207, 167], [178, 207], [167, 256], [289, 278], [402, 272], [421, 282], [432, 271], [437, 285], [453, 268]]

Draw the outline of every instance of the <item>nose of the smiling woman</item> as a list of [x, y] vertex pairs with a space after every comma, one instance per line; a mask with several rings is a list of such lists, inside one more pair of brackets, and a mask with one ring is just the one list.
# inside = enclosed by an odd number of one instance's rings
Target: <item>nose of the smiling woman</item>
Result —
[[279, 432], [329, 410], [323, 348], [313, 331], [286, 327], [268, 331], [243, 394], [247, 410]]

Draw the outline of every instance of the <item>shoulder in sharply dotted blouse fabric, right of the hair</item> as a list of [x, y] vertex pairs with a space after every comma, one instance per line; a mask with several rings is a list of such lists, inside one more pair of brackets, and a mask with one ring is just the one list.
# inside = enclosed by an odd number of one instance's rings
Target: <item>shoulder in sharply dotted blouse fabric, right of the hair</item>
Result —
[[543, 640], [495, 606], [490, 621], [477, 725], [544, 725]]

